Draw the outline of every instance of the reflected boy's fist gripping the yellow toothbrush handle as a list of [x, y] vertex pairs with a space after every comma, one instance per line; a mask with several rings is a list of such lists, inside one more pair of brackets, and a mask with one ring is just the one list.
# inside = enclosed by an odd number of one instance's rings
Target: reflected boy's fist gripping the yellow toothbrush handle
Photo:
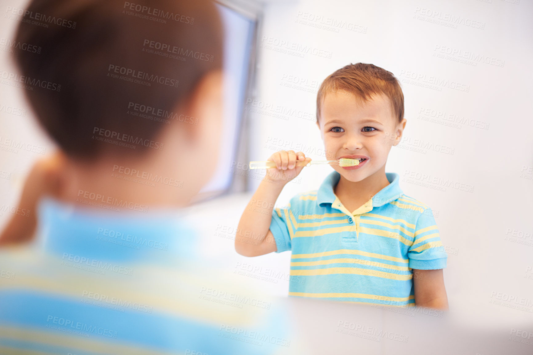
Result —
[[[305, 158], [303, 152], [279, 151], [272, 154], [268, 160], [276, 163], [276, 168], [266, 169], [268, 180], [285, 185], [300, 174], [300, 171], [311, 161], [311, 158]], [[297, 161], [304, 161], [305, 165], [297, 167]]]

